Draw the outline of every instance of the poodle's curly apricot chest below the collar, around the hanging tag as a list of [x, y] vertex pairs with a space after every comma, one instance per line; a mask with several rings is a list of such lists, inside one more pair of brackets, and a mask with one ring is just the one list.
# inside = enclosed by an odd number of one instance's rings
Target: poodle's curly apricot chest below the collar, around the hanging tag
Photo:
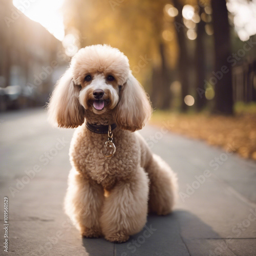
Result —
[[103, 187], [112, 187], [116, 181], [129, 175], [136, 168], [134, 156], [136, 153], [130, 144], [114, 139], [116, 153], [112, 157], [105, 157], [102, 137], [83, 137], [71, 149], [71, 160], [76, 168], [88, 175]]

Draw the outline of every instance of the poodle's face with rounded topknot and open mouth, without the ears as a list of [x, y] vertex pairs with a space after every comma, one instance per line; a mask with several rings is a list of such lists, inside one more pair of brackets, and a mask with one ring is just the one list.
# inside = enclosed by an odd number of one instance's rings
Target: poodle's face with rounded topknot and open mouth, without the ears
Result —
[[130, 70], [127, 57], [109, 46], [81, 49], [73, 57], [71, 69], [73, 81], [80, 87], [80, 104], [99, 115], [115, 108]]

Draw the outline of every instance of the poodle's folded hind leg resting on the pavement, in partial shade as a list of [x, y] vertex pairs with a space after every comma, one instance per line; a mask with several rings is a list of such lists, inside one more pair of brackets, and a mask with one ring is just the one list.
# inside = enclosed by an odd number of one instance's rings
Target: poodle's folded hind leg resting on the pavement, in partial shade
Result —
[[158, 215], [172, 212], [178, 185], [176, 174], [159, 156], [153, 155], [146, 172], [150, 178], [148, 209]]

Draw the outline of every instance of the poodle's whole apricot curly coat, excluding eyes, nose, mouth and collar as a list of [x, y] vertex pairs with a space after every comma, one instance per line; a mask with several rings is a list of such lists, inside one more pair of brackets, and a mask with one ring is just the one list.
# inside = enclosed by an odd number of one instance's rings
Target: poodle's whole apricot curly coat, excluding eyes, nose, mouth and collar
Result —
[[[88, 75], [90, 81], [84, 79]], [[98, 89], [104, 92], [101, 110], [94, 107]], [[177, 178], [135, 132], [150, 118], [152, 108], [123, 53], [106, 45], [79, 50], [57, 82], [48, 111], [49, 120], [58, 126], [78, 127], [70, 147], [65, 210], [82, 236], [124, 242], [143, 228], [148, 211], [172, 211]], [[108, 136], [89, 131], [85, 119], [117, 124], [115, 155], [103, 155]]]

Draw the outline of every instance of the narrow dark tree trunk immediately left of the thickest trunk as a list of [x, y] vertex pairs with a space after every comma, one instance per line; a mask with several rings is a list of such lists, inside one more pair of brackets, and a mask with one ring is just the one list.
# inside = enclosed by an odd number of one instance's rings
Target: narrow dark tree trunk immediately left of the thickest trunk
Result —
[[[203, 13], [203, 8], [200, 8], [199, 15]], [[206, 78], [205, 72], [205, 49], [204, 49], [204, 36], [205, 36], [205, 22], [201, 19], [197, 25], [197, 39], [196, 39], [196, 108], [202, 110], [206, 105], [204, 79]]]

